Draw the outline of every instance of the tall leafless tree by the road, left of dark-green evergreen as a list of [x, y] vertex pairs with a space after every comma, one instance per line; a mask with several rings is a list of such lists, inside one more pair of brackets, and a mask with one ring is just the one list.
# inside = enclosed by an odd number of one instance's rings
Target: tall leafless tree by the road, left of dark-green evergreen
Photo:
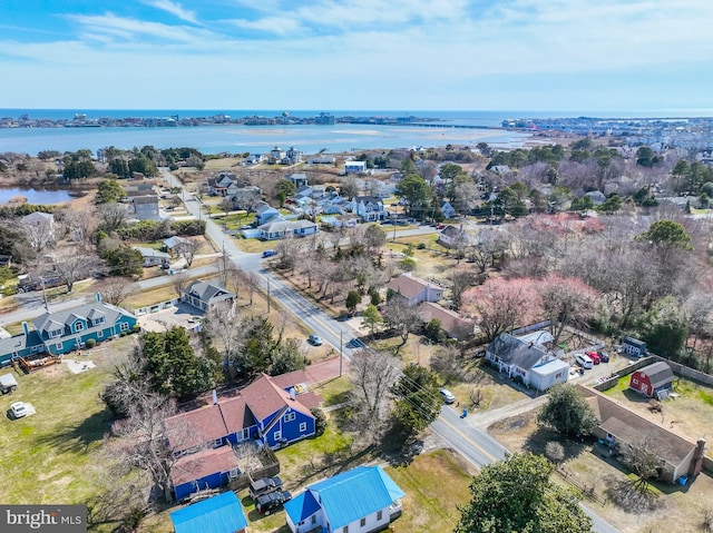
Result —
[[384, 430], [389, 414], [389, 389], [399, 375], [395, 364], [394, 357], [369, 348], [356, 352], [350, 364], [353, 399], [359, 409], [358, 423], [362, 434], [374, 441]]

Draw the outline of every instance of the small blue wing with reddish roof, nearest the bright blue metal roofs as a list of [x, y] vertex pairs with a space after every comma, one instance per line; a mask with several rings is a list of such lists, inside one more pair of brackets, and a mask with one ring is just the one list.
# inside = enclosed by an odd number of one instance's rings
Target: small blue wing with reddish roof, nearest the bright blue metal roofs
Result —
[[225, 486], [240, 475], [237, 456], [232, 446], [184, 455], [170, 470], [170, 481], [178, 501], [198, 491]]

